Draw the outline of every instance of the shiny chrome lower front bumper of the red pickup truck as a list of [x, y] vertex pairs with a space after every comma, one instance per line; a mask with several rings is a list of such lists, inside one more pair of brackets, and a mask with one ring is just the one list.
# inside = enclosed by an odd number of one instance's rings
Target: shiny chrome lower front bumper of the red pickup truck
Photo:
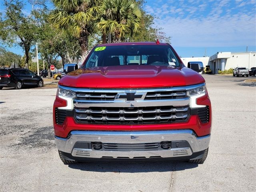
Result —
[[[163, 141], [187, 141], [190, 147], [170, 148], [166, 150], [143, 151], [111, 151], [94, 150], [91, 148], [74, 148], [76, 142], [102, 142], [102, 143], [152, 143]], [[190, 156], [208, 148], [210, 135], [196, 137], [192, 130], [163, 130], [163, 131], [72, 131], [68, 138], [55, 136], [58, 150], [72, 154], [75, 157], [86, 158], [152, 158], [152, 157], [179, 157]]]

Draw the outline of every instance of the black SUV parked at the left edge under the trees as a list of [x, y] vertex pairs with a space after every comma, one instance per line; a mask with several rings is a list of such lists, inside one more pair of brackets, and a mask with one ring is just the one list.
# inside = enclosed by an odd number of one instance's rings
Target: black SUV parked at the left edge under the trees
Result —
[[16, 89], [33, 85], [42, 87], [43, 84], [44, 80], [28, 69], [0, 69], [0, 90], [3, 87], [15, 87]]

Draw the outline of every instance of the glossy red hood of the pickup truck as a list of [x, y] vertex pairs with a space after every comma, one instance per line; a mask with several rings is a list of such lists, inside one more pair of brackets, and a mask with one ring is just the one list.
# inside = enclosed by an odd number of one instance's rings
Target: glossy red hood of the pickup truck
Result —
[[197, 72], [172, 66], [106, 66], [78, 69], [61, 78], [59, 85], [76, 88], [152, 88], [204, 83]]

